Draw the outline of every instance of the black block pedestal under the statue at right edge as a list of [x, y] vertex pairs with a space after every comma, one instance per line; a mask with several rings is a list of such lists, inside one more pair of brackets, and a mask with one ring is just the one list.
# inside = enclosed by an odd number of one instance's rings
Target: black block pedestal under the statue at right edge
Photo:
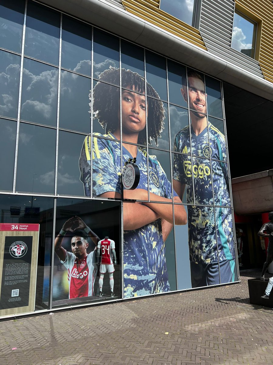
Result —
[[268, 279], [261, 278], [248, 279], [249, 301], [251, 304], [273, 308], [273, 289], [269, 295], [269, 299], [262, 299], [265, 289], [268, 284]]

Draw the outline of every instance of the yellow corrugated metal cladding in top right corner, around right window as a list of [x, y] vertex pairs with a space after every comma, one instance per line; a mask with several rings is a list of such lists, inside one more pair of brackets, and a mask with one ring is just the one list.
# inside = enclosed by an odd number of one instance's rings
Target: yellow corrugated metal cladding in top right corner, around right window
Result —
[[272, 1], [240, 0], [236, 1], [242, 7], [262, 20], [260, 65], [265, 79], [273, 82], [273, 11]]

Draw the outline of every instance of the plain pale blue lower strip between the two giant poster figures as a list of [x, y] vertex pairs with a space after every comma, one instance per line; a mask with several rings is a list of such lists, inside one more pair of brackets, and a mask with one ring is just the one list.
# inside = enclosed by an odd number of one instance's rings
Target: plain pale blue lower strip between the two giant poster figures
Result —
[[[187, 205], [184, 206], [186, 213]], [[177, 289], [191, 288], [188, 225], [175, 225], [175, 253], [177, 261]]]

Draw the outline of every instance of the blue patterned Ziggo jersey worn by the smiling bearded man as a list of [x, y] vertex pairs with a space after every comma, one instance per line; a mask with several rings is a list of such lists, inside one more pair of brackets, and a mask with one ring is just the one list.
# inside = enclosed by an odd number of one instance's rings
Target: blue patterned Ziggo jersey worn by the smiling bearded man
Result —
[[[186, 186], [190, 261], [205, 263], [235, 258], [232, 210], [223, 134], [211, 123], [198, 136], [183, 128], [175, 137], [173, 178]], [[210, 158], [211, 156], [211, 164]], [[219, 160], [219, 161], [217, 161]], [[219, 207], [213, 208], [214, 204]], [[194, 199], [195, 197], [195, 204]], [[212, 205], [201, 207], [197, 205]], [[218, 253], [217, 253], [218, 246]]]

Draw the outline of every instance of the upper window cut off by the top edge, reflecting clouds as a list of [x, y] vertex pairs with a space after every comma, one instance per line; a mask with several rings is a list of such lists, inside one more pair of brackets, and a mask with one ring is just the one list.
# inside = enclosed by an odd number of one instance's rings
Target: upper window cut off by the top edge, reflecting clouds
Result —
[[159, 8], [175, 18], [196, 27], [198, 0], [160, 0]]

